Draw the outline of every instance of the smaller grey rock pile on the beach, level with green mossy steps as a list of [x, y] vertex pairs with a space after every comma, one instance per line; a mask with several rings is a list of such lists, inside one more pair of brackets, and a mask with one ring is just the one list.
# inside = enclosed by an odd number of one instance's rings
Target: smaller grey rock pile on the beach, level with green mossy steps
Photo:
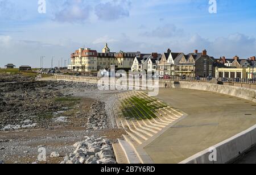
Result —
[[88, 114], [87, 129], [88, 130], [103, 130], [108, 128], [108, 118], [105, 111], [105, 103], [96, 101], [90, 107]]

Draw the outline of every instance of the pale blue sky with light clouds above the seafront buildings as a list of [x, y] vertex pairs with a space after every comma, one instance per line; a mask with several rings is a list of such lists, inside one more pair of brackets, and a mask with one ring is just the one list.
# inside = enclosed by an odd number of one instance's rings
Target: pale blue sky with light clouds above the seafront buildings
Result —
[[[46, 2], [46, 13], [39, 13]], [[256, 55], [256, 1], [0, 0], [0, 67], [58, 66], [80, 47], [101, 52]], [[63, 61], [64, 65], [64, 61]]]

